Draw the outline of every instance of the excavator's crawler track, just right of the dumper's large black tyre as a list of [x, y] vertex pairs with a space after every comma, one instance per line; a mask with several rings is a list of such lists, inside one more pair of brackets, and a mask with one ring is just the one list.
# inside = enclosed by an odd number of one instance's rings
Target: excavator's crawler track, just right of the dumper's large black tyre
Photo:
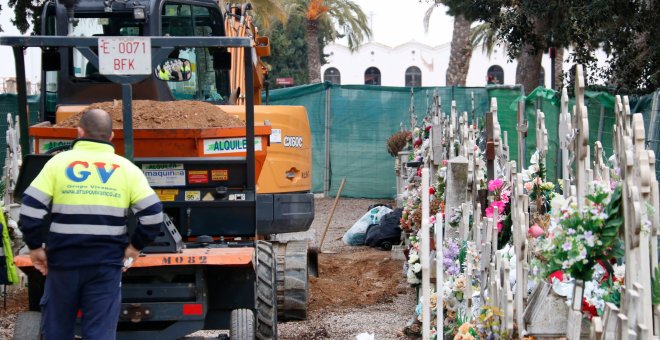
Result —
[[309, 280], [307, 241], [277, 243], [277, 317], [307, 319]]

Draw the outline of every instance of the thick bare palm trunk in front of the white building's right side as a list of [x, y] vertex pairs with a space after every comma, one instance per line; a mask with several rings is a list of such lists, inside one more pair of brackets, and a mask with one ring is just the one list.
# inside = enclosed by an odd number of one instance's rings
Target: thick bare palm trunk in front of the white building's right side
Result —
[[467, 72], [472, 58], [470, 26], [472, 22], [462, 15], [454, 17], [454, 32], [451, 37], [449, 66], [447, 67], [447, 86], [465, 86]]

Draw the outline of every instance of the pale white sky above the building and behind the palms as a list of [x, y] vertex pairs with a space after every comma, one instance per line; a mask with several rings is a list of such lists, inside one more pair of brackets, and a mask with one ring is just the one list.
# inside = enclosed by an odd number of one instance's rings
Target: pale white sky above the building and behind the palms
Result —
[[[11, 24], [13, 10], [7, 5], [8, 0], [0, 0], [0, 25], [4, 32], [0, 35], [14, 36], [20, 33]], [[370, 18], [373, 32], [372, 40], [388, 46], [397, 46], [415, 40], [430, 46], [442, 45], [451, 41], [453, 19], [446, 15], [446, 8], [438, 5], [431, 15], [429, 32], [424, 32], [424, 13], [432, 6], [426, 0], [353, 0]], [[344, 43], [338, 41], [338, 43]], [[277, 48], [273, 46], [272, 48]], [[13, 77], [14, 58], [12, 50], [0, 46], [0, 78]], [[36, 48], [28, 49], [25, 56], [26, 77], [31, 81], [39, 80], [41, 61]]]

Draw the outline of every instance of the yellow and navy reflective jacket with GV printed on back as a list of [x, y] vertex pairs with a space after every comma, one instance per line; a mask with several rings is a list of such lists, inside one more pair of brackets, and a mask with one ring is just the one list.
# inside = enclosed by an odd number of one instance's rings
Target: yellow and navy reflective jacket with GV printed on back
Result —
[[140, 168], [116, 155], [112, 144], [79, 139], [73, 150], [50, 159], [25, 190], [19, 227], [30, 249], [45, 241], [49, 267], [121, 266], [129, 208], [138, 218], [131, 244], [142, 249], [163, 223], [158, 196]]

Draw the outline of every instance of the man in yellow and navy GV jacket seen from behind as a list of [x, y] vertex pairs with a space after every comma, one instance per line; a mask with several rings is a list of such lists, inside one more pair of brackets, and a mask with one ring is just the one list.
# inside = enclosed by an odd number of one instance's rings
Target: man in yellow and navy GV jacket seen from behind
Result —
[[[137, 260], [163, 223], [158, 196], [140, 168], [115, 155], [112, 137], [107, 112], [85, 111], [72, 150], [53, 156], [23, 194], [23, 240], [32, 264], [46, 275], [46, 340], [73, 339], [79, 311], [83, 339], [115, 339], [122, 268]], [[130, 243], [128, 208], [138, 220]]]

